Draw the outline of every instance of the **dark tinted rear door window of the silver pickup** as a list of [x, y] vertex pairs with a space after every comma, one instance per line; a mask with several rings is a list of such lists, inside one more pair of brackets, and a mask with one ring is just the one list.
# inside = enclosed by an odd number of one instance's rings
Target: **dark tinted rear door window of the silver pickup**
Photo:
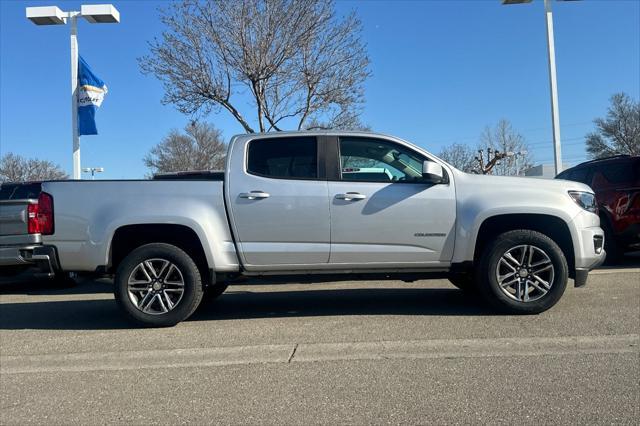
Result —
[[316, 179], [318, 144], [315, 137], [256, 139], [249, 142], [247, 171], [279, 179]]

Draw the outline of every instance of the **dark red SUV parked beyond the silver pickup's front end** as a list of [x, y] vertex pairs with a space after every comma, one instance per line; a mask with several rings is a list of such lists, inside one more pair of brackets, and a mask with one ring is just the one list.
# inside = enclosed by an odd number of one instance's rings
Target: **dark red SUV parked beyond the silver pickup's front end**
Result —
[[615, 263], [626, 251], [640, 250], [640, 157], [587, 161], [556, 179], [586, 183], [596, 193], [607, 263]]

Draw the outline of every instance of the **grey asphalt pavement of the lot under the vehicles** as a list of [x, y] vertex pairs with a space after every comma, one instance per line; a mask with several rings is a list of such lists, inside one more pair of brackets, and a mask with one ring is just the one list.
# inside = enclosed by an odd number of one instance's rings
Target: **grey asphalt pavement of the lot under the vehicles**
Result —
[[109, 280], [0, 283], [0, 424], [616, 423], [640, 418], [640, 268], [496, 315], [447, 281], [231, 286], [132, 328]]

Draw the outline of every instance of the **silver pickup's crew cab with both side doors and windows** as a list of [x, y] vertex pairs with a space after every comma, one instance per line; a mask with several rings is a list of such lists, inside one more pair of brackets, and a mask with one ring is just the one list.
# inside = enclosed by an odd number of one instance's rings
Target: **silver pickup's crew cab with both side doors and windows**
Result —
[[[455, 183], [444, 163], [438, 163], [442, 180], [423, 177], [423, 163], [434, 158], [376, 136], [235, 139], [225, 185], [243, 266], [247, 271], [448, 267]], [[358, 176], [359, 164], [387, 172]]]

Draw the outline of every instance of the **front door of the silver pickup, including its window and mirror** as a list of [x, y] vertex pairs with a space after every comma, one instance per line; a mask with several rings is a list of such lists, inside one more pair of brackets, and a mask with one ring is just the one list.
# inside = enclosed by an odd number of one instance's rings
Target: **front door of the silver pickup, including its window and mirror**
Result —
[[339, 138], [340, 177], [329, 182], [331, 256], [345, 267], [443, 266], [451, 261], [453, 182], [422, 180], [427, 158], [378, 138]]

